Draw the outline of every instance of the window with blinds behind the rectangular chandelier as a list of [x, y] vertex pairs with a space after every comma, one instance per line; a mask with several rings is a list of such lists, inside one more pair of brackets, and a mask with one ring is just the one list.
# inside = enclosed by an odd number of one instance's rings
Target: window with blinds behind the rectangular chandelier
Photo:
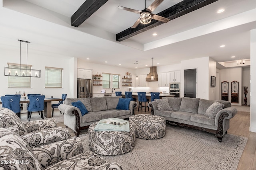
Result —
[[[29, 70], [31, 70], [31, 65], [21, 65], [20, 64], [9, 64], [8, 68], [10, 74], [27, 74]], [[20, 73], [20, 68], [22, 70], [28, 70]], [[31, 78], [30, 77], [22, 77], [22, 76], [8, 76], [8, 87], [16, 87], [16, 88], [30, 88], [31, 87]]]

